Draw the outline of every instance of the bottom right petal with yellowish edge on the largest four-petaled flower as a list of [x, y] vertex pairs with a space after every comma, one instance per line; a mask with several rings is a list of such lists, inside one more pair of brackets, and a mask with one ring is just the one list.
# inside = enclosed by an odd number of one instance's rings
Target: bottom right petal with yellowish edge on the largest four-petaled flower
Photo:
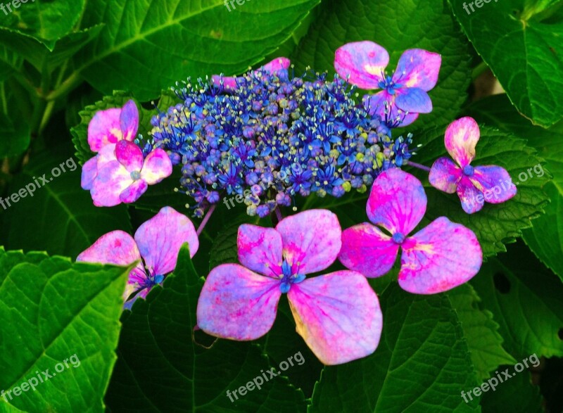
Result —
[[306, 279], [293, 284], [287, 297], [298, 334], [322, 363], [350, 362], [377, 348], [383, 326], [379, 300], [359, 272]]

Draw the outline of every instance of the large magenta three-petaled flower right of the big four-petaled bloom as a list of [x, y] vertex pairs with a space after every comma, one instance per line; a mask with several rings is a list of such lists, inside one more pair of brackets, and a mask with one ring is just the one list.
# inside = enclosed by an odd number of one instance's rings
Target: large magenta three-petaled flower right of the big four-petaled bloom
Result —
[[426, 194], [411, 174], [399, 169], [380, 174], [366, 210], [372, 224], [355, 225], [342, 234], [339, 259], [347, 268], [381, 277], [402, 249], [398, 282], [417, 294], [448, 291], [479, 272], [481, 246], [463, 225], [439, 217], [409, 236], [426, 212]]

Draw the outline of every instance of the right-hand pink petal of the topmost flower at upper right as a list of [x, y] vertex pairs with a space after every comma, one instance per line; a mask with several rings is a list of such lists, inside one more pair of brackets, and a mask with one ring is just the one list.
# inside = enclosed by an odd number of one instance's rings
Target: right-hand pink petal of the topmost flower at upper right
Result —
[[438, 82], [442, 57], [422, 49], [408, 49], [400, 56], [393, 82], [401, 87], [418, 87], [429, 91]]

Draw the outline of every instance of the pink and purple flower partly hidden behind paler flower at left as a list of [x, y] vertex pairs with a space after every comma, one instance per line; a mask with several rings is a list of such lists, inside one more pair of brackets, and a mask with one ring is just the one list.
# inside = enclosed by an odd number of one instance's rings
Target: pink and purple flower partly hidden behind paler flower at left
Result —
[[92, 152], [99, 152], [107, 144], [133, 141], [139, 127], [139, 110], [130, 100], [122, 108], [100, 110], [88, 124], [88, 144]]

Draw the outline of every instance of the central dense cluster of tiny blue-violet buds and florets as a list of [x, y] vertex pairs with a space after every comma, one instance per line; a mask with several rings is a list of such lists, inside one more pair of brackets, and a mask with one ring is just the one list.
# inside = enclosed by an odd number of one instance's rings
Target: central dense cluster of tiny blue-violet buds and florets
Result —
[[181, 191], [196, 216], [246, 189], [248, 215], [260, 217], [295, 205], [297, 194], [366, 191], [410, 158], [412, 136], [391, 138], [400, 122], [370, 115], [355, 87], [288, 68], [279, 58], [241, 77], [182, 82], [172, 90], [183, 103], [151, 120], [144, 151], [163, 148], [182, 164]]

